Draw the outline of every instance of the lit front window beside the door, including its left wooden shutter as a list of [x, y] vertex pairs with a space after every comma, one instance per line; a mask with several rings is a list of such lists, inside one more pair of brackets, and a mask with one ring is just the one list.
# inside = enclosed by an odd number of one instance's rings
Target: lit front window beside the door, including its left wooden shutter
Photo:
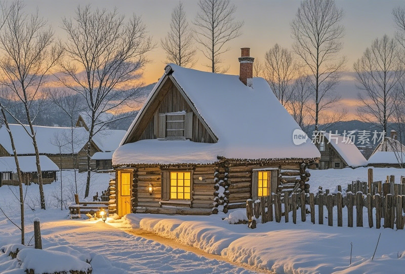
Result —
[[162, 171], [161, 200], [191, 200], [192, 171]]

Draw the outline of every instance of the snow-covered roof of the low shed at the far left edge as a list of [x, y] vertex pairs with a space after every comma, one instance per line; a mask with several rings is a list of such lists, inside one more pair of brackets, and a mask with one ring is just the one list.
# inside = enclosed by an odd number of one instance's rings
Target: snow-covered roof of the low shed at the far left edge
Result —
[[[58, 171], [59, 168], [45, 155], [39, 155], [39, 163], [41, 163], [41, 171]], [[22, 172], [36, 172], [35, 156], [18, 156], [18, 164]], [[0, 172], [17, 172], [14, 156], [0, 157]]]

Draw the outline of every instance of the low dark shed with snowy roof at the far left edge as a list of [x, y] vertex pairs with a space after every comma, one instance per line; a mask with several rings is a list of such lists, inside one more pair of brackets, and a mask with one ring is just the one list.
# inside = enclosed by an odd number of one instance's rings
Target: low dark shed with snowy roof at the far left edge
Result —
[[[39, 156], [39, 162], [41, 163], [43, 183], [49, 184], [56, 181], [56, 172], [59, 170], [58, 166], [45, 155]], [[38, 183], [35, 156], [18, 156], [18, 163], [23, 183]], [[14, 156], [0, 157], [0, 186], [2, 185], [18, 185], [18, 174]]]

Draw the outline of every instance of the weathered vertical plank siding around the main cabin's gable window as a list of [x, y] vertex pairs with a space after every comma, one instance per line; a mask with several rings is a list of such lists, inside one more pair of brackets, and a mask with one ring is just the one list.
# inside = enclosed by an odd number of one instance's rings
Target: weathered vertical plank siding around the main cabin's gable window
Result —
[[[164, 94], [163, 98], [161, 99], [161, 103], [158, 108], [154, 110], [154, 114], [150, 115], [146, 128], [145, 130], [143, 130], [139, 140], [158, 138], [158, 136], [156, 135], [156, 128], [158, 127], [157, 125], [155, 125], [158, 119], [154, 118], [155, 115], [158, 115], [159, 113], [178, 111], [192, 112], [192, 108], [188, 105], [184, 97], [180, 94], [180, 92], [171, 81], [167, 81], [165, 83], [161, 92]], [[191, 141], [201, 143], [215, 143], [214, 139], [209, 134], [209, 131], [199, 121], [198, 116], [195, 113], [193, 113], [192, 121], [192, 138], [190, 138]]]

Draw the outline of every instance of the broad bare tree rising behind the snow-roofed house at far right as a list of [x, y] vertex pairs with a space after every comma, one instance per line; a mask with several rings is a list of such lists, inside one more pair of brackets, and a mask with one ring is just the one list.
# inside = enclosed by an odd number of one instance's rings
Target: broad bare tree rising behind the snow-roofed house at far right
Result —
[[359, 116], [384, 132], [387, 132], [398, 98], [395, 87], [402, 75], [398, 54], [395, 40], [384, 35], [374, 40], [353, 65], [357, 88], [361, 90], [358, 93], [361, 101]]

